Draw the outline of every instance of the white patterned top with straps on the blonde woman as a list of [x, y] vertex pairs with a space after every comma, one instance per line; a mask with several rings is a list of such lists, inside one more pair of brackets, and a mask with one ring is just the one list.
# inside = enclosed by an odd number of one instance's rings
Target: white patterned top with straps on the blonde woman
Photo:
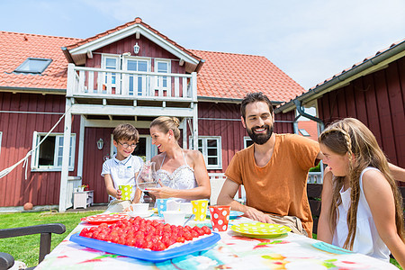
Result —
[[[157, 177], [159, 177], [162, 184], [173, 188], [173, 189], [192, 189], [197, 186], [197, 181], [195, 180], [194, 170], [191, 166], [188, 166], [187, 161], [184, 157], [184, 165], [178, 166], [173, 173], [169, 173], [164, 169], [157, 170]], [[165, 157], [163, 157], [162, 165], [165, 162]], [[176, 202], [190, 202], [189, 200], [181, 199], [181, 198], [174, 198]]]

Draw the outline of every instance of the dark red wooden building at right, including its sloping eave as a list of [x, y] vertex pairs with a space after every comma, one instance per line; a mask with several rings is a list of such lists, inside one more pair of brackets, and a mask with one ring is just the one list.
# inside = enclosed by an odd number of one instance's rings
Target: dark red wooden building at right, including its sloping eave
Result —
[[324, 126], [354, 117], [373, 131], [394, 165], [405, 167], [405, 40], [381, 49], [275, 112], [315, 106]]

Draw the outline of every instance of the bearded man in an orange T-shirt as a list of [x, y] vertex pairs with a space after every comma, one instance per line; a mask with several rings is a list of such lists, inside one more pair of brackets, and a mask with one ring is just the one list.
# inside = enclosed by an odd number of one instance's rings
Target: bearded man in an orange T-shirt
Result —
[[[261, 92], [247, 94], [240, 112], [254, 144], [232, 157], [218, 204], [243, 211], [252, 220], [283, 224], [311, 237], [306, 187], [310, 168], [322, 157], [318, 142], [295, 134], [275, 134], [273, 105]], [[233, 200], [240, 184], [245, 186], [246, 205]]]

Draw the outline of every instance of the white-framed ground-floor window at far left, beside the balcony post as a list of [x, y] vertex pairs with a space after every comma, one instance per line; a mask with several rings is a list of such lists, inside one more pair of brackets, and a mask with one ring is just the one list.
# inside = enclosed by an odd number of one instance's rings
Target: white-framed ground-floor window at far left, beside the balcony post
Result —
[[[47, 133], [34, 132], [32, 148], [36, 148]], [[76, 134], [70, 135], [69, 171], [74, 169]], [[51, 133], [31, 157], [32, 171], [61, 171], [63, 157], [63, 133]]]

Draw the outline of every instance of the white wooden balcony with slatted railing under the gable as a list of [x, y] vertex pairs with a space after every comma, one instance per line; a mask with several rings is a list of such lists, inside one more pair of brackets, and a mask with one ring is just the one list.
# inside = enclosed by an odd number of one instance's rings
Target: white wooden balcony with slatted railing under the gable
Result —
[[69, 64], [67, 98], [73, 98], [75, 104], [87, 106], [93, 104], [190, 109], [193, 108], [193, 103], [197, 102], [197, 77], [196, 73], [112, 71]]

